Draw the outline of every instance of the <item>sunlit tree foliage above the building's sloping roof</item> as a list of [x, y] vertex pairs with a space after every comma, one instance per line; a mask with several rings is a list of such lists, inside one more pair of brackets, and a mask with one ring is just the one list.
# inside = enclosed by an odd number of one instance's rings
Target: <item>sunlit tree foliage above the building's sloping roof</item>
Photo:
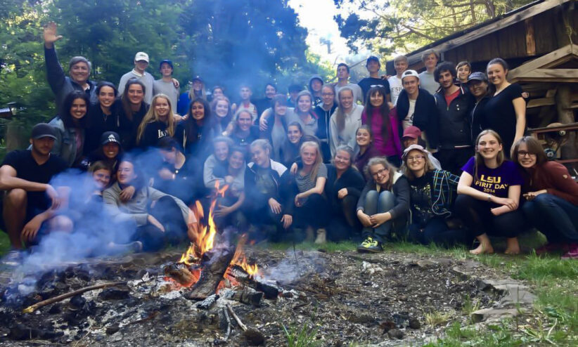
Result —
[[353, 4], [361, 13], [336, 15], [341, 36], [356, 52], [359, 46], [390, 54], [413, 51], [420, 46], [465, 30], [484, 20], [532, 2], [532, 0], [334, 0], [341, 8]]

